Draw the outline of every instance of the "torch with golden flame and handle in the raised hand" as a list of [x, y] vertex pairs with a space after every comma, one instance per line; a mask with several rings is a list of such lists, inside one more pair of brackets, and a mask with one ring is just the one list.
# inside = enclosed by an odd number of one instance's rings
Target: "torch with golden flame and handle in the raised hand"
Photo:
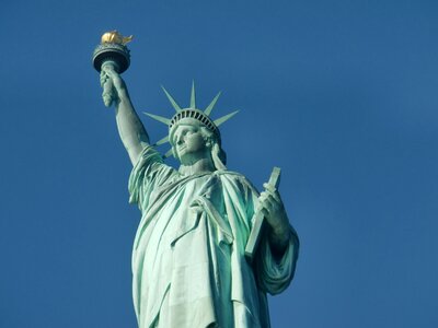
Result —
[[[122, 74], [130, 65], [129, 49], [126, 44], [132, 39], [132, 36], [123, 36], [117, 31], [106, 32], [102, 35], [101, 44], [94, 49], [93, 66], [97, 72], [101, 72], [104, 67], [114, 69]], [[107, 79], [103, 87], [103, 102], [106, 107], [110, 107], [114, 99], [114, 87], [111, 79]]]

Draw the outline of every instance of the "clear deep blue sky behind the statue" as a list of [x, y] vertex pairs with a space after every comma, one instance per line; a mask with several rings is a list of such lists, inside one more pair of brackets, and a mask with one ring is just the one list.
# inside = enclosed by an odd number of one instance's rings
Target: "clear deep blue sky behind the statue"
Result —
[[[230, 169], [273, 166], [301, 238], [273, 327], [438, 327], [436, 1], [7, 1], [0, 11], [0, 327], [135, 327], [139, 211], [91, 66], [134, 34], [138, 112], [195, 80]], [[142, 117], [151, 139], [165, 128]], [[163, 149], [165, 151], [165, 149]]]

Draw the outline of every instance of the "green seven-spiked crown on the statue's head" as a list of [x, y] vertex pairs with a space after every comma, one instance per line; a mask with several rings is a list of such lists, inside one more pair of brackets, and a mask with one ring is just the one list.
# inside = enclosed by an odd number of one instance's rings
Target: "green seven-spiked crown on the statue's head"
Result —
[[[172, 134], [173, 134], [176, 126], [178, 125], [178, 122], [182, 119], [185, 119], [185, 118], [191, 118], [191, 119], [197, 120], [200, 125], [203, 125], [209, 131], [215, 133], [220, 142], [220, 131], [219, 131], [218, 127], [239, 113], [239, 110], [235, 110], [226, 116], [222, 116], [218, 119], [212, 120], [210, 118], [210, 114], [220, 96], [220, 92], [215, 96], [215, 98], [210, 102], [210, 104], [207, 106], [206, 109], [204, 109], [204, 110], [197, 109], [196, 108], [195, 82], [192, 83], [191, 105], [188, 108], [181, 107], [176, 103], [176, 101], [172, 97], [172, 95], [164, 89], [164, 86], [161, 85], [161, 89], [164, 91], [164, 94], [166, 95], [168, 99], [172, 104], [176, 114], [173, 115], [172, 118], [166, 118], [166, 117], [150, 114], [150, 113], [143, 113], [143, 114], [148, 115], [149, 117], [151, 117], [169, 127], [169, 134], [166, 137], [162, 138], [160, 141], [155, 142], [154, 145], [160, 145], [160, 144], [170, 142], [172, 140]], [[172, 154], [172, 149], [170, 149], [164, 154], [164, 157], [169, 157], [171, 154]]]

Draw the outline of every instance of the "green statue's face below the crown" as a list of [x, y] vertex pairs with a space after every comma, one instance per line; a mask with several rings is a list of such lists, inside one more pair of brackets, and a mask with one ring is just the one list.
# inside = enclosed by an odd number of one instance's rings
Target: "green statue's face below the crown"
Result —
[[193, 122], [180, 122], [173, 133], [173, 148], [183, 165], [191, 165], [209, 156], [209, 149], [200, 126]]

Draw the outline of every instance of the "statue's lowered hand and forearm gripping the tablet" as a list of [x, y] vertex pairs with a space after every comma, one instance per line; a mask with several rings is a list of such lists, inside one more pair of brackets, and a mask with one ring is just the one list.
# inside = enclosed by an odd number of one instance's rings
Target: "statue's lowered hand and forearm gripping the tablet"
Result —
[[264, 184], [265, 191], [258, 197], [258, 210], [264, 214], [269, 225], [269, 243], [276, 250], [283, 253], [290, 238], [290, 225], [285, 206], [278, 190], [269, 184]]

